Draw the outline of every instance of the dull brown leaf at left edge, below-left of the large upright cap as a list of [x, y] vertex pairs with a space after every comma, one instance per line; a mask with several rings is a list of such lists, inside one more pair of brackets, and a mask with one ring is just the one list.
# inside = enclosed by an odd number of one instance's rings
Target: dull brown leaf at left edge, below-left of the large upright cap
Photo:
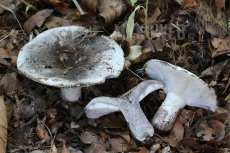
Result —
[[17, 73], [5, 73], [0, 80], [0, 85], [4, 85], [5, 93], [11, 98], [14, 98], [18, 89]]

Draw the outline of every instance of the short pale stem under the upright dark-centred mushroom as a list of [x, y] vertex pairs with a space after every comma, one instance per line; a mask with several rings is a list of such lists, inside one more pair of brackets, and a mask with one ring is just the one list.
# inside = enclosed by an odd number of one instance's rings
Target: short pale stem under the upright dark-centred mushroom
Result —
[[69, 102], [76, 102], [81, 98], [81, 87], [61, 88], [61, 96]]

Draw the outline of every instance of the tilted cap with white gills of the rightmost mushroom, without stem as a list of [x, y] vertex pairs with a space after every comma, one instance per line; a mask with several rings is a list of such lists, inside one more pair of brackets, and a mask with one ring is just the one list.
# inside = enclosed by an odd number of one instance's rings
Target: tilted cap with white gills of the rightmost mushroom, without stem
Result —
[[216, 111], [217, 101], [214, 90], [195, 74], [156, 59], [148, 61], [144, 68], [150, 78], [165, 85], [163, 90], [166, 93], [172, 92], [178, 95], [189, 106]]

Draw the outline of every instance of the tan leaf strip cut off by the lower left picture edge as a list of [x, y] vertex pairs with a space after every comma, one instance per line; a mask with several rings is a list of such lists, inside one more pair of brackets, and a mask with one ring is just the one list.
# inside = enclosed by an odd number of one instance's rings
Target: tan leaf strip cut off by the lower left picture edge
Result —
[[7, 144], [7, 118], [6, 118], [6, 108], [4, 103], [4, 97], [0, 96], [0, 150], [2, 153], [6, 152]]

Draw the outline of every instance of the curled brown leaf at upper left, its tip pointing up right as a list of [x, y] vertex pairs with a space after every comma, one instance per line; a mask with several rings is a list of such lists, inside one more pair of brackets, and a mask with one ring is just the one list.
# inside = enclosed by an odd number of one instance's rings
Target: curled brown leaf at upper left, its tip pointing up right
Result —
[[23, 25], [25, 31], [30, 33], [31, 30], [37, 25], [41, 27], [45, 19], [50, 16], [53, 12], [52, 9], [45, 9], [37, 12], [36, 14], [32, 15]]

